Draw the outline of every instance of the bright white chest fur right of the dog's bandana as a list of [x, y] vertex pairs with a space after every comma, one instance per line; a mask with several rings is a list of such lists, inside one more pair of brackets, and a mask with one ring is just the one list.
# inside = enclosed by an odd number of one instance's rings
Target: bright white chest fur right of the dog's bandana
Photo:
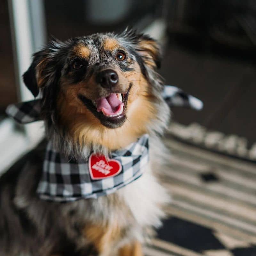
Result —
[[158, 138], [150, 138], [149, 142], [150, 161], [144, 167], [143, 175], [117, 193], [123, 197], [138, 225], [158, 227], [164, 217], [162, 206], [170, 202], [170, 195], [159, 183], [156, 174], [163, 171], [170, 152]]

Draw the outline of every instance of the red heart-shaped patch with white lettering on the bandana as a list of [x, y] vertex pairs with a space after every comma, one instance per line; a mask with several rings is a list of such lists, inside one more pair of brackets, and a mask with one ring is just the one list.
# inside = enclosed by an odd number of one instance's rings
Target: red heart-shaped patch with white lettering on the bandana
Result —
[[101, 180], [116, 176], [122, 171], [122, 165], [114, 159], [106, 159], [103, 155], [91, 155], [89, 170], [92, 180]]

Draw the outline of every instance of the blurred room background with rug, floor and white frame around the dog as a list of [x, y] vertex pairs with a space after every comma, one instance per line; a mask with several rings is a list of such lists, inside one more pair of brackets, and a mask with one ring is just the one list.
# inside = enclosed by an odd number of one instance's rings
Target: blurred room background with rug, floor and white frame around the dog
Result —
[[173, 202], [147, 255], [256, 255], [255, 0], [0, 0], [0, 14], [0, 171], [43, 138], [41, 122], [5, 115], [33, 99], [21, 80], [32, 53], [51, 36], [131, 26], [162, 45], [166, 84], [204, 101], [172, 109]]

